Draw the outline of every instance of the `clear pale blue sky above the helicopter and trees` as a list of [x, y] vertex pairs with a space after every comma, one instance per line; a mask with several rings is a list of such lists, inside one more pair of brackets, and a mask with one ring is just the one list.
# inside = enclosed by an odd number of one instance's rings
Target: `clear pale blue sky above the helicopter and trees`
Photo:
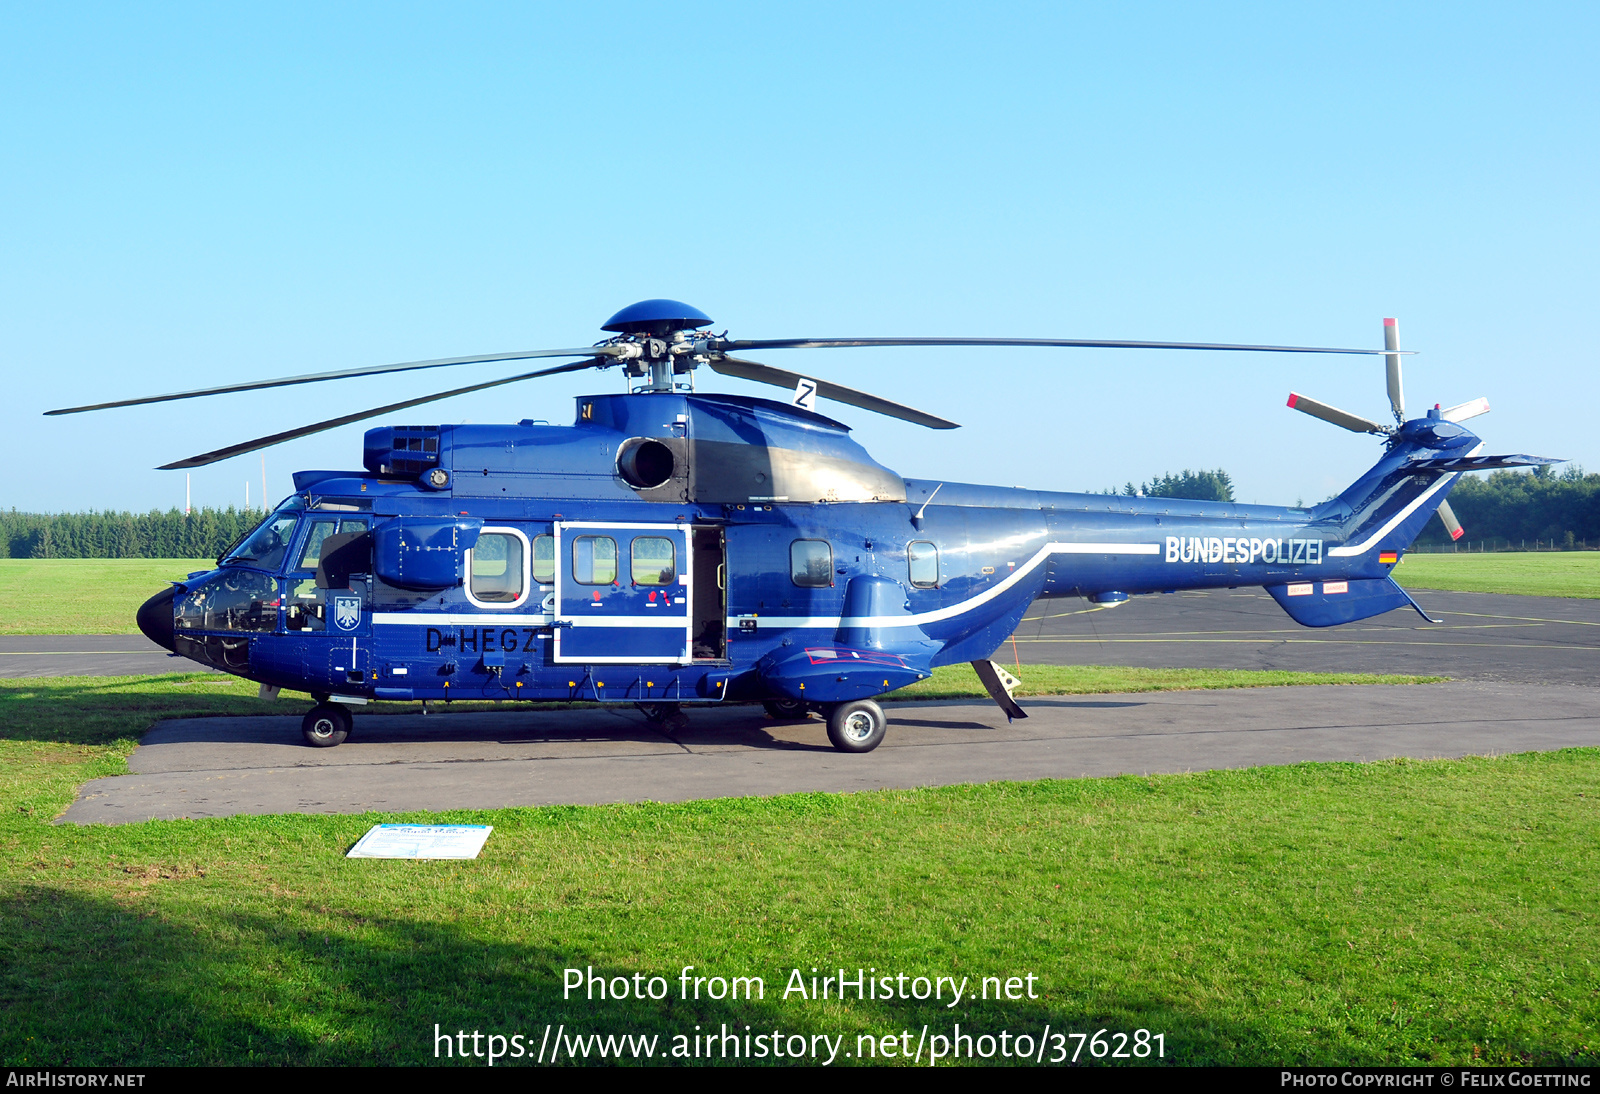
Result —
[[[1600, 469], [1595, 5], [0, 6], [0, 504], [181, 505], [155, 464], [504, 365], [51, 406], [600, 337], [1378, 345], [1490, 451]], [[821, 405], [901, 473], [1054, 489], [1224, 467], [1318, 501], [1381, 358], [773, 352], [963, 422]], [[768, 393], [706, 376], [723, 390]], [[405, 411], [571, 419], [614, 373]], [[267, 451], [358, 467], [368, 422]], [[259, 504], [259, 459], [194, 473]]]

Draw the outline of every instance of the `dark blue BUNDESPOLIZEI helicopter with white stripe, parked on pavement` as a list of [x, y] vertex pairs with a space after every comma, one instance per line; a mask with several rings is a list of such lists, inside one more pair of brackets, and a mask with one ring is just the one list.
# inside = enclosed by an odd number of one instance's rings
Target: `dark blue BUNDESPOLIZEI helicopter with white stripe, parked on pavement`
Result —
[[[1382, 349], [1099, 339], [733, 339], [669, 299], [613, 315], [574, 349], [403, 361], [248, 381], [72, 414], [358, 376], [531, 358], [549, 368], [346, 414], [165, 464], [189, 469], [453, 395], [619, 368], [571, 425], [382, 425], [362, 470], [302, 470], [294, 494], [138, 611], [174, 656], [310, 693], [310, 745], [347, 739], [370, 701], [634, 704], [682, 728], [694, 704], [821, 713], [842, 752], [885, 736], [875, 697], [970, 662], [1008, 718], [992, 661], [1035, 600], [1093, 608], [1142, 593], [1261, 585], [1296, 622], [1427, 613], [1392, 576], [1469, 470], [1558, 462], [1483, 456], [1461, 425], [1483, 398], [1406, 417], [1395, 320]], [[1075, 494], [902, 478], [832, 400], [930, 429], [936, 414], [738, 353], [875, 345], [1182, 349], [1381, 355], [1394, 424], [1291, 393], [1288, 406], [1382, 440], [1378, 462], [1314, 507]], [[787, 403], [699, 392], [694, 371], [770, 384]]]

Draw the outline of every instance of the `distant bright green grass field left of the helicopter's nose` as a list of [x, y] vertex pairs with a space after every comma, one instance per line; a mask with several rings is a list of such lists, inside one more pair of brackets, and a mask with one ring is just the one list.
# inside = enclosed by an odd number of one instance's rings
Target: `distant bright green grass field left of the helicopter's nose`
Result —
[[0, 558], [0, 635], [136, 635], [139, 605], [214, 558]]

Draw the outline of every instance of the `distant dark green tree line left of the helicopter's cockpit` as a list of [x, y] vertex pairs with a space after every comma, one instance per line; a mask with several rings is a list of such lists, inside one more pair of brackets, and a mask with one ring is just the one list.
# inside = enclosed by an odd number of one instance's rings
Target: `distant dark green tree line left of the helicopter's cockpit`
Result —
[[258, 509], [195, 509], [186, 513], [0, 512], [6, 558], [216, 558], [261, 520]]

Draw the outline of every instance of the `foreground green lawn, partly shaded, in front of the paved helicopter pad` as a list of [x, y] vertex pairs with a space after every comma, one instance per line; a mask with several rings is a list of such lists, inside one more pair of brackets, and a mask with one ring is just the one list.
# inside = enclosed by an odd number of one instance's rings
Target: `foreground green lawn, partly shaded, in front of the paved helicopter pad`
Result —
[[[957, 1022], [1013, 1044], [1142, 1028], [1181, 1064], [1600, 1062], [1600, 750], [50, 824], [158, 717], [291, 709], [245, 688], [0, 681], [6, 1064], [427, 1062], [435, 1024], [520, 1033], [531, 1056], [547, 1022], [656, 1035], [658, 1056], [696, 1024], [843, 1036], [838, 1065], [861, 1035], [915, 1049]], [[494, 833], [474, 862], [342, 857], [397, 819]], [[562, 971], [589, 966], [659, 976], [667, 998], [563, 998]], [[682, 1000], [683, 966], [762, 977], [765, 998]], [[784, 998], [794, 969], [810, 987], [840, 966], [970, 992], [1034, 976], [1035, 998]]]

